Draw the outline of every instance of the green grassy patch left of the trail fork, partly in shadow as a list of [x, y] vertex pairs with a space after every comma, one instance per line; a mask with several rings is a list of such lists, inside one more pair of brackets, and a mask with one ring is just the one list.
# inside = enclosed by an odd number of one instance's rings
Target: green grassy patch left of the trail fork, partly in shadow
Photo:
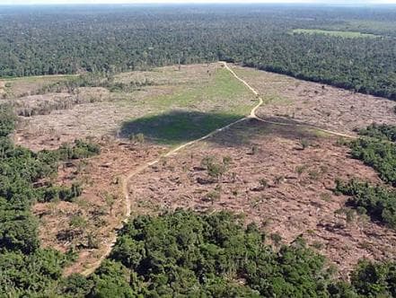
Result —
[[150, 115], [125, 122], [121, 136], [143, 134], [163, 145], [178, 145], [206, 136], [250, 113], [253, 95], [226, 69], [219, 69], [210, 82], [188, 85], [171, 95], [141, 102]]

